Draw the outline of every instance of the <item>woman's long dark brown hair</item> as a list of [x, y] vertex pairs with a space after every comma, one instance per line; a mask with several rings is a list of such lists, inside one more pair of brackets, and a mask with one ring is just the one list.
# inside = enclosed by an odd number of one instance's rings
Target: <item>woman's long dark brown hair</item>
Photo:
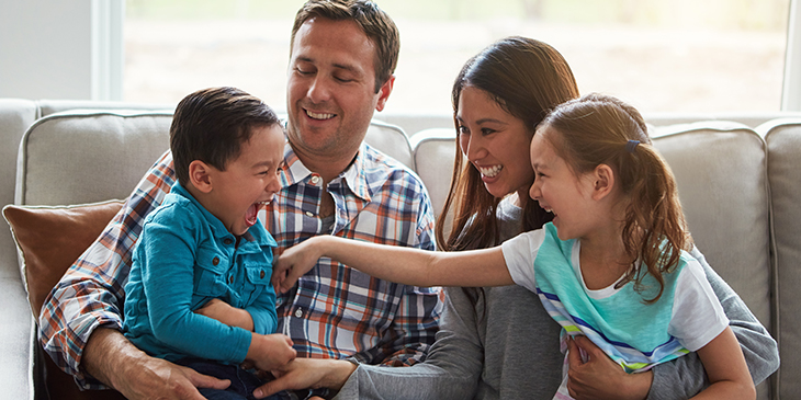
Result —
[[[453, 121], [465, 87], [481, 89], [503, 110], [521, 119], [531, 132], [560, 103], [578, 96], [578, 87], [567, 61], [553, 47], [527, 37], [500, 39], [467, 60], [453, 83]], [[463, 162], [456, 146], [451, 186], [440, 214], [437, 244], [447, 251], [487, 248], [497, 244], [496, 209], [500, 198], [484, 187], [481, 173]], [[453, 210], [453, 225], [445, 233], [445, 220]], [[523, 208], [523, 230], [542, 227], [551, 219], [537, 202]]]

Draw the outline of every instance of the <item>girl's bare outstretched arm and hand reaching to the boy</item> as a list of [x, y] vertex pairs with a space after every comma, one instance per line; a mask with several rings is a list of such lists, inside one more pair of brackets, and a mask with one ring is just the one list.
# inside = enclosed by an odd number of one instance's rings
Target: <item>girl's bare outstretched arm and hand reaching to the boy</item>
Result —
[[330, 258], [377, 278], [413, 286], [512, 285], [499, 247], [473, 251], [438, 252], [375, 244], [334, 236], [317, 236], [284, 250], [272, 272], [272, 284], [284, 293]]

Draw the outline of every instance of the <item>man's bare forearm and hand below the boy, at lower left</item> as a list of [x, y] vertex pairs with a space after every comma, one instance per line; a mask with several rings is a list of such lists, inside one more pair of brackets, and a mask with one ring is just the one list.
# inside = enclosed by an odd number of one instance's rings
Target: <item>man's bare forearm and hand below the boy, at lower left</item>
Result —
[[133, 400], [203, 400], [196, 388], [225, 389], [230, 385], [228, 380], [150, 357], [120, 331], [108, 328], [98, 328], [89, 336], [81, 367]]

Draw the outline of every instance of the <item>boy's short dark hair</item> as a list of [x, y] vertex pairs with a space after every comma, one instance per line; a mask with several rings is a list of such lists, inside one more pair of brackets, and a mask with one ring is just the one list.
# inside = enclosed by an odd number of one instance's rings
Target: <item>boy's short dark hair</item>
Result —
[[170, 126], [176, 175], [189, 182], [189, 164], [200, 160], [221, 171], [239, 157], [253, 128], [280, 124], [260, 99], [236, 88], [199, 90], [181, 100]]

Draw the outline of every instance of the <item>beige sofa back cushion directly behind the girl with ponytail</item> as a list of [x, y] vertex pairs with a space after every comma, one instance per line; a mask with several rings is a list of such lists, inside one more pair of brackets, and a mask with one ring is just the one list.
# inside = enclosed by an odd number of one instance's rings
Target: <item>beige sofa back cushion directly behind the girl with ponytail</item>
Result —
[[654, 146], [670, 164], [696, 245], [765, 327], [770, 327], [766, 147], [744, 125], [663, 128]]

